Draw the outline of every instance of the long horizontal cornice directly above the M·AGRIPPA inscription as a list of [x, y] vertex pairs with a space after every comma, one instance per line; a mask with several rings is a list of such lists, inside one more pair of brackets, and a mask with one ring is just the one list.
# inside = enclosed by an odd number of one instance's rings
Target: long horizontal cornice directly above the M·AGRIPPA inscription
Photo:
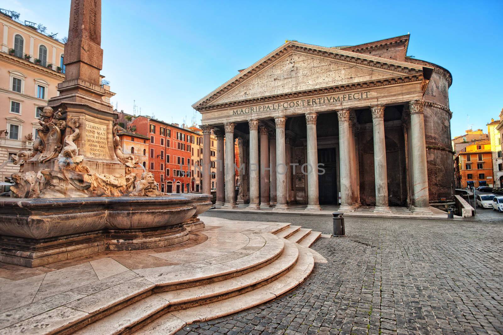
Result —
[[296, 99], [296, 98], [329, 94], [329, 93], [364, 90], [364, 89], [383, 87], [383, 86], [389, 86], [389, 85], [397, 85], [397, 84], [402, 84], [402, 83], [417, 82], [417, 81], [422, 81], [422, 80], [423, 80], [423, 74], [421, 73], [421, 74], [414, 74], [414, 75], [407, 75], [407, 76], [383, 78], [383, 79], [378, 79], [378, 80], [354, 82], [354, 83], [349, 83], [349, 84], [345, 84], [345, 85], [324, 87], [324, 88], [313, 89], [313, 90], [289, 92], [289, 93], [283, 93], [283, 94], [277, 94], [277, 95], [259, 97], [259, 98], [253, 98], [253, 99], [232, 101], [232, 102], [226, 102], [226, 103], [217, 104], [217, 105], [195, 107], [195, 109], [198, 112], [207, 112], [207, 111], [216, 110], [216, 109], [233, 108], [233, 107], [238, 107], [238, 106], [253, 105], [253, 104], [259, 104], [259, 103], [266, 103], [266, 102], [274, 102], [274, 101], [278, 101], [278, 100]]

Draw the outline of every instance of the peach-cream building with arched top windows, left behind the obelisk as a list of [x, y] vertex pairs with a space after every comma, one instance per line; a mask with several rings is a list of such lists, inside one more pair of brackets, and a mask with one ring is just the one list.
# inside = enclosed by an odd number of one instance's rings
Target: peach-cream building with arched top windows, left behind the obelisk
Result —
[[0, 14], [0, 180], [10, 181], [19, 165], [10, 155], [31, 148], [41, 128], [38, 107], [58, 95], [64, 80], [64, 44]]

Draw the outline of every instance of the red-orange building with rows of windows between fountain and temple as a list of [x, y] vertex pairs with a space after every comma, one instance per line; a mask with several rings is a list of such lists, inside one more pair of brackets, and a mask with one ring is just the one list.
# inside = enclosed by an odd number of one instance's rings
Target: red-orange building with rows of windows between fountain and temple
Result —
[[[161, 192], [194, 192], [192, 146], [197, 133], [163, 121], [139, 116], [131, 121], [136, 132], [150, 138], [147, 170], [154, 175]], [[147, 141], [148, 142], [148, 141]]]

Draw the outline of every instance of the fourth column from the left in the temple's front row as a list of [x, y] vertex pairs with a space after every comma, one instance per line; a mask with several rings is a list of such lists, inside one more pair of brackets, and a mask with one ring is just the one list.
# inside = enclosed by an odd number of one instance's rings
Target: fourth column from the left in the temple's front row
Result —
[[276, 123], [276, 209], [288, 209], [287, 205], [287, 170], [286, 165], [286, 117], [274, 118]]

